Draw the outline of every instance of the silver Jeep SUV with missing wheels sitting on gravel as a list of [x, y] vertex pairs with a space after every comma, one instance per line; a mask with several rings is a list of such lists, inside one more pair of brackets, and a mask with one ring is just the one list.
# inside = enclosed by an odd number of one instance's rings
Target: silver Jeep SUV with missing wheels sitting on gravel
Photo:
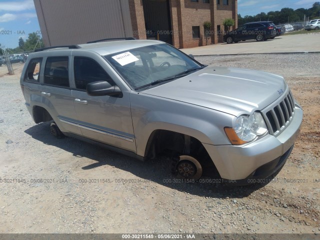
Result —
[[20, 83], [35, 123], [51, 121], [53, 135], [141, 160], [164, 155], [192, 180], [272, 176], [302, 121], [283, 77], [206, 66], [157, 40], [42, 48], [29, 54]]

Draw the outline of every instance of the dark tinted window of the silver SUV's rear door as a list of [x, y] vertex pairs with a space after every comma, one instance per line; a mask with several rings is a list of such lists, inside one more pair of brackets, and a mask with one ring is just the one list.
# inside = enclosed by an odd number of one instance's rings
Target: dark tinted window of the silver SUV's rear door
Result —
[[44, 83], [69, 87], [68, 57], [48, 57], [44, 69]]

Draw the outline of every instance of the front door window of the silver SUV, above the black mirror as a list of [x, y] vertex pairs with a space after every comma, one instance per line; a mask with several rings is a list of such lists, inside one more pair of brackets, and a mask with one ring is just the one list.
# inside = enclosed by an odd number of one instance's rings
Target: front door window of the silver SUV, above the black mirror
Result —
[[74, 81], [77, 89], [86, 89], [86, 84], [93, 81], [107, 81], [115, 85], [111, 77], [93, 59], [74, 57]]

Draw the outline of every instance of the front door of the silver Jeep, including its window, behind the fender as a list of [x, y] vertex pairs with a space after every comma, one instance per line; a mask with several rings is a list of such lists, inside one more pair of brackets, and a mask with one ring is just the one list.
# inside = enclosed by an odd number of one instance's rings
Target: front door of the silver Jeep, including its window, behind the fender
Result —
[[106, 67], [106, 61], [96, 55], [75, 55], [73, 70], [75, 88], [72, 90], [72, 96], [77, 123], [83, 136], [136, 152], [129, 92], [123, 91], [121, 97], [89, 96], [86, 93], [86, 85], [89, 82], [102, 80], [115, 85], [107, 72], [109, 69]]

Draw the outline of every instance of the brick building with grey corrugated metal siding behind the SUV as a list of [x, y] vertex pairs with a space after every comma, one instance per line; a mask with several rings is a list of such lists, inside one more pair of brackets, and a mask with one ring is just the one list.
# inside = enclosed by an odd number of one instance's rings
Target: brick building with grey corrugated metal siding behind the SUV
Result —
[[217, 43], [225, 18], [237, 22], [237, 0], [33, 1], [45, 46], [133, 36], [195, 47]]

